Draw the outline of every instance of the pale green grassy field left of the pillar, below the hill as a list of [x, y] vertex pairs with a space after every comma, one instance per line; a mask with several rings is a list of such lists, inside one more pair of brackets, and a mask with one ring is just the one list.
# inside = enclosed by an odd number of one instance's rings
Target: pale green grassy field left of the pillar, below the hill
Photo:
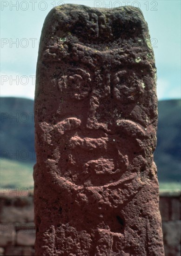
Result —
[[19, 189], [33, 187], [33, 165], [33, 163], [0, 160], [0, 187]]

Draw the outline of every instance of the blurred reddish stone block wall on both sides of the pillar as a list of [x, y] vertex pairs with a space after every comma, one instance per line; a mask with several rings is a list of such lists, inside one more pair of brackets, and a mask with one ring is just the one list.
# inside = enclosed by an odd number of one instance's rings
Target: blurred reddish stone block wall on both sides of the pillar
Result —
[[[34, 255], [33, 196], [0, 195], [0, 255]], [[165, 256], [180, 256], [181, 194], [161, 193]]]

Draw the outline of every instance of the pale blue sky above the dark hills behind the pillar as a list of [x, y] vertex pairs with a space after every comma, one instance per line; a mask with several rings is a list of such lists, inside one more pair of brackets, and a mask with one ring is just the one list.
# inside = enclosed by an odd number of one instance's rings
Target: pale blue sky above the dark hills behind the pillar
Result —
[[47, 13], [64, 3], [140, 7], [148, 23], [157, 67], [159, 100], [181, 96], [181, 1], [1, 0], [1, 96], [34, 98], [38, 41]]

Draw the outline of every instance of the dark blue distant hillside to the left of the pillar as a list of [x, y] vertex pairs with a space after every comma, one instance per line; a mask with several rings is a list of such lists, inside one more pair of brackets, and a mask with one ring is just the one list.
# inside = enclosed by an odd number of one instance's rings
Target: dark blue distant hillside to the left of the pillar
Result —
[[1, 159], [35, 162], [34, 159], [34, 101], [0, 98]]

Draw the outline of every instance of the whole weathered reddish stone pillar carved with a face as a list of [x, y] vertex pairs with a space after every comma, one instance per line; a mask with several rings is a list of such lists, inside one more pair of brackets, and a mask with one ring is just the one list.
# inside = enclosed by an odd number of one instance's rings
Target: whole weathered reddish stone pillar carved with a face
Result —
[[164, 255], [155, 86], [138, 8], [48, 14], [35, 91], [36, 255]]

